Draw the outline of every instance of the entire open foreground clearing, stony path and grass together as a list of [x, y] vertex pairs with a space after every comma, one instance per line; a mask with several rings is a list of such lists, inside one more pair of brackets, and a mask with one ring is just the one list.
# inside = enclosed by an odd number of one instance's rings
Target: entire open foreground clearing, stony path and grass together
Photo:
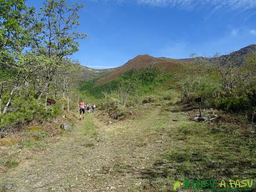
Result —
[[87, 114], [45, 149], [17, 153], [19, 165], [0, 175], [0, 185], [14, 184], [8, 191], [171, 191], [184, 178], [254, 178], [252, 136], [231, 123], [189, 121], [184, 112], [172, 112], [173, 101], [159, 97], [131, 109], [132, 119], [110, 125], [105, 116]]

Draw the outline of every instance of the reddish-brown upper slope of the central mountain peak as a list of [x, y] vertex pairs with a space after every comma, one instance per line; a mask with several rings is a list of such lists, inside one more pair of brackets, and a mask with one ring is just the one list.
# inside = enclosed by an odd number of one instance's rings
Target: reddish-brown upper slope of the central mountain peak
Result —
[[125, 65], [120, 67], [116, 67], [112, 69], [112, 72], [98, 82], [96, 82], [95, 86], [104, 85], [105, 83], [113, 80], [115, 77], [121, 75], [122, 73], [131, 70], [132, 68], [141, 69], [149, 66], [157, 66], [163, 68], [165, 73], [178, 71], [178, 69], [187, 64], [188, 62], [181, 60], [174, 60], [171, 58], [156, 58], [150, 55], [139, 55], [132, 60], [129, 60]]

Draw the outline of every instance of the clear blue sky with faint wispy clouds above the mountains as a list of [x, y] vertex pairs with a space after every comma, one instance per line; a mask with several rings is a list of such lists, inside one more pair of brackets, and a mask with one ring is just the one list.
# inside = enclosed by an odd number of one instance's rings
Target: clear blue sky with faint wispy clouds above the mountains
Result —
[[[42, 1], [28, 0], [39, 8]], [[80, 51], [91, 68], [121, 66], [137, 55], [212, 56], [256, 43], [256, 0], [67, 0], [83, 3]]]

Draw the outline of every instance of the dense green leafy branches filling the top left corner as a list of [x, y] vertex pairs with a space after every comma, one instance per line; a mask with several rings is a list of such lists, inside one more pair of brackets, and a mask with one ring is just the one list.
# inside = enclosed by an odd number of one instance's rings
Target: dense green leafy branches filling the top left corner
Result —
[[0, 0], [0, 50], [22, 51], [35, 27], [35, 8], [27, 8], [24, 0]]

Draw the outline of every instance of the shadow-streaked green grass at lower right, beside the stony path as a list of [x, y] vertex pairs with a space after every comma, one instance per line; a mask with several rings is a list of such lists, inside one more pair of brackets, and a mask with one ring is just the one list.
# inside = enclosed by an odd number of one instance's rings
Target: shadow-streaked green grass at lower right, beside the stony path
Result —
[[[253, 137], [240, 137], [238, 131], [227, 131], [229, 126], [208, 127], [203, 122], [182, 122], [171, 136], [177, 147], [165, 150], [156, 161], [156, 165], [162, 163], [162, 166], [154, 167], [160, 174], [151, 178], [153, 188], [165, 191], [165, 183], [169, 180], [183, 181], [185, 178], [253, 179], [255, 144], [248, 142]], [[237, 129], [235, 126], [231, 130]], [[175, 175], [169, 173], [173, 168]]]

